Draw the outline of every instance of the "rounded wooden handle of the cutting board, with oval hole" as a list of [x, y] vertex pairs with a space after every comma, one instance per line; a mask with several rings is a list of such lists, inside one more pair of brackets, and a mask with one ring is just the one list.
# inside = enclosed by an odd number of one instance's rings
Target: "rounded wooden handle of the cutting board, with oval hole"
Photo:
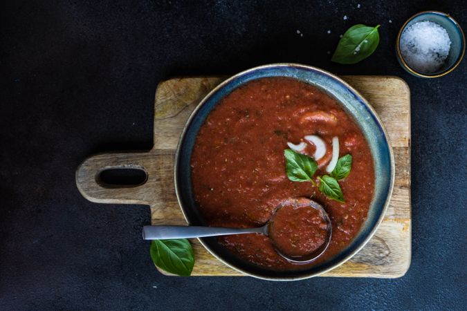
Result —
[[[170, 157], [157, 151], [100, 153], [87, 158], [77, 168], [76, 185], [91, 202], [149, 205], [163, 195], [160, 170], [164, 163], [171, 162]], [[140, 185], [109, 185], [100, 178], [100, 173], [107, 169], [140, 169], [145, 171], [147, 179]]]

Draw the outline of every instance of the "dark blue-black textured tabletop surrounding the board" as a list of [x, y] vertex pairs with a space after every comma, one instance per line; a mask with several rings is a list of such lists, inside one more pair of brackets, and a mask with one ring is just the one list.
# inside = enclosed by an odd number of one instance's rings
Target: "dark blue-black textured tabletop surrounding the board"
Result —
[[[428, 9], [467, 30], [467, 4], [195, 2], [1, 1], [0, 310], [466, 308], [467, 60], [446, 77], [411, 77], [394, 40]], [[378, 50], [332, 64], [327, 51], [355, 23], [381, 23]], [[141, 240], [149, 207], [98, 205], [77, 191], [75, 169], [91, 153], [152, 147], [162, 79], [271, 62], [410, 85], [413, 254], [401, 279], [162, 276]]]

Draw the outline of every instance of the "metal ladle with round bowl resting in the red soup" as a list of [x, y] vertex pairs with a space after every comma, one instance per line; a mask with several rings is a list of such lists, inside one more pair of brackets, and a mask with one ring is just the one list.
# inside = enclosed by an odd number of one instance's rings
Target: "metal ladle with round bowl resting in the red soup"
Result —
[[[289, 256], [281, 252], [275, 245], [275, 242], [271, 236], [269, 236], [269, 227], [274, 221], [274, 216], [276, 212], [288, 205], [294, 205], [295, 207], [311, 207], [316, 209], [319, 213], [321, 218], [327, 223], [327, 237], [324, 243], [315, 249], [310, 254], [306, 254], [306, 256]], [[274, 245], [275, 251], [277, 254], [280, 254], [284, 257], [287, 261], [291, 263], [297, 264], [305, 264], [311, 263], [316, 258], [321, 256], [329, 246], [331, 242], [331, 235], [332, 235], [332, 226], [331, 220], [327, 212], [324, 208], [319, 205], [317, 202], [310, 200], [309, 198], [294, 198], [284, 200], [277, 205], [273, 216], [268, 220], [266, 225], [257, 228], [223, 228], [223, 227], [201, 227], [201, 226], [144, 226], [143, 227], [143, 238], [145, 240], [165, 240], [171, 238], [205, 238], [208, 236], [227, 236], [231, 234], [253, 234], [259, 233], [268, 236], [271, 239], [271, 242]]]

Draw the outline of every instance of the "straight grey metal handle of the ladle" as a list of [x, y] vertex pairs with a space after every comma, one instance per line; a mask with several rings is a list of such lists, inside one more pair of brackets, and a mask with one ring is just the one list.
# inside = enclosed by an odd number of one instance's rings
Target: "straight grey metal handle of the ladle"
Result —
[[221, 228], [195, 226], [144, 226], [145, 240], [164, 240], [169, 238], [203, 238], [206, 236], [226, 236], [229, 234], [264, 233], [259, 228]]

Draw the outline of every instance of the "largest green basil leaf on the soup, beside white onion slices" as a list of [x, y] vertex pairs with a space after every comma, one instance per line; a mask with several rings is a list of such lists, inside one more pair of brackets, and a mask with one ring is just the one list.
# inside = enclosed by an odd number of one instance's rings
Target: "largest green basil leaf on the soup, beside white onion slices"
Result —
[[318, 169], [318, 164], [315, 160], [292, 149], [284, 150], [284, 156], [286, 158], [286, 173], [289, 180], [297, 182], [311, 181], [316, 169]]

